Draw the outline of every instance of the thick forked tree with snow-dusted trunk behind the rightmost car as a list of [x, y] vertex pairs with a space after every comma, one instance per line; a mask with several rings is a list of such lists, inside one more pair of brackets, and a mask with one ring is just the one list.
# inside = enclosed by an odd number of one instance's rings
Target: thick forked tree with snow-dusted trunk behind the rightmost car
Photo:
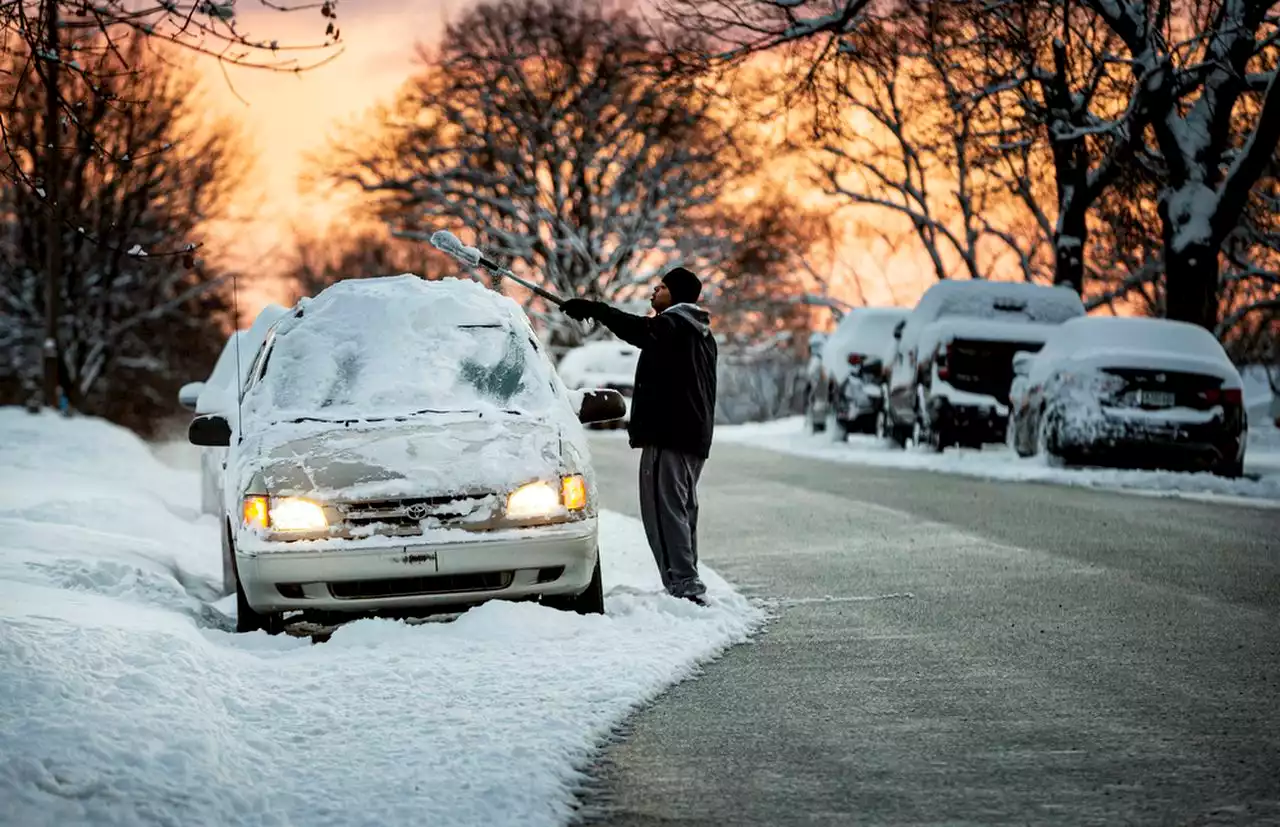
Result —
[[1149, 93], [1166, 312], [1213, 329], [1222, 243], [1280, 141], [1280, 17], [1271, 0], [1087, 1]]

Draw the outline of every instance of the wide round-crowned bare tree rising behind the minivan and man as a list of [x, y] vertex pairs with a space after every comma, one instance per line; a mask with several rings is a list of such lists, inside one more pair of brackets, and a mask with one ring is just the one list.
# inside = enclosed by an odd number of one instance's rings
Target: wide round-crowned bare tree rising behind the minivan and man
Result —
[[508, 0], [422, 60], [392, 125], [332, 165], [397, 230], [474, 236], [568, 296], [630, 298], [723, 255], [709, 228], [740, 173], [731, 129], [639, 18]]

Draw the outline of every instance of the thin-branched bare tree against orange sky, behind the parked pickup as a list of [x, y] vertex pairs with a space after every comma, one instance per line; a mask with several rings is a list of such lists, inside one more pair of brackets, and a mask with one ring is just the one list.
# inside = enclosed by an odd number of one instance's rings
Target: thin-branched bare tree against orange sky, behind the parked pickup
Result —
[[[905, 219], [937, 278], [988, 278], [1000, 248], [1023, 278], [1041, 275], [1044, 236], [1011, 232], [1002, 170], [986, 147], [993, 129], [974, 90], [973, 31], [951, 4], [900, 8], [845, 37], [824, 70], [814, 132], [828, 193]], [[1002, 211], [1004, 216], [997, 218]]]

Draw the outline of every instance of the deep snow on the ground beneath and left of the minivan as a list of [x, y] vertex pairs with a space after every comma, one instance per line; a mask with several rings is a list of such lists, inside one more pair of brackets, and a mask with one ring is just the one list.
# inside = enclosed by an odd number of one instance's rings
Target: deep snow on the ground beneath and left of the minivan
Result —
[[710, 608], [662, 594], [640, 526], [605, 513], [604, 617], [234, 635], [193, 471], [14, 408], [0, 467], [5, 824], [564, 823], [611, 728], [762, 620], [710, 571]]

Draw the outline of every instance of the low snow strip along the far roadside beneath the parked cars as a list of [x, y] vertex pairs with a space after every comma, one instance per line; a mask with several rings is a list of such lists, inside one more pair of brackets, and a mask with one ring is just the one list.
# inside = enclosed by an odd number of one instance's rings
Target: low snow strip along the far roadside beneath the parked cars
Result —
[[[773, 422], [718, 426], [716, 440], [745, 443], [803, 457], [893, 469], [957, 474], [991, 480], [1056, 483], [1085, 488], [1158, 493], [1198, 499], [1247, 498], [1252, 503], [1280, 502], [1280, 440], [1275, 429], [1251, 428], [1244, 471], [1258, 479], [1230, 480], [1212, 474], [1130, 471], [1115, 469], [1057, 469], [1039, 457], [1019, 458], [1002, 446], [982, 451], [950, 448], [933, 453], [922, 448], [900, 451], [874, 437], [851, 435], [833, 443], [824, 434], [809, 434], [804, 417]], [[714, 448], [712, 449], [714, 451]]]

